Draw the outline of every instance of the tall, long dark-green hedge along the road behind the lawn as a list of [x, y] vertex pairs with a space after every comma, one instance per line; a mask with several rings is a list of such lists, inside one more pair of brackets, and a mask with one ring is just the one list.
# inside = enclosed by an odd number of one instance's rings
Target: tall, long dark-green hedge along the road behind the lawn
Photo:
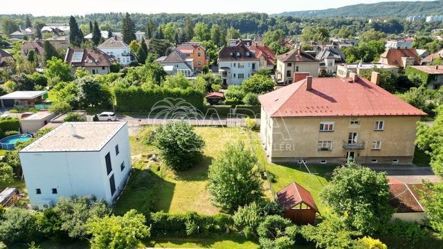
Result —
[[[114, 89], [118, 111], [151, 111], [152, 107], [163, 105], [163, 110], [168, 111], [179, 102], [186, 101], [186, 106], [203, 110], [204, 94], [195, 89], [142, 89], [141, 87], [129, 87]], [[166, 99], [170, 98], [170, 102]], [[180, 104], [183, 106], [183, 104]]]

